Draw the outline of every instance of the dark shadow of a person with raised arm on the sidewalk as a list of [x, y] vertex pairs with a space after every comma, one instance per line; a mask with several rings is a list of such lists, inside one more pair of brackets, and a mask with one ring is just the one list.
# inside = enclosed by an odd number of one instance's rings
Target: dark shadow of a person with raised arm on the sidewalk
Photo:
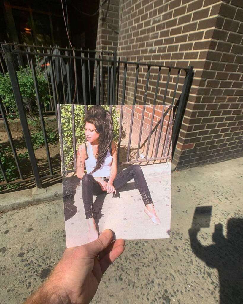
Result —
[[[194, 226], [194, 227], [193, 227]], [[220, 304], [243, 303], [243, 219], [231, 218], [227, 237], [221, 223], [215, 225], [214, 244], [203, 246], [197, 239], [200, 228], [192, 225], [189, 237], [193, 253], [208, 267], [217, 268], [220, 283]]]

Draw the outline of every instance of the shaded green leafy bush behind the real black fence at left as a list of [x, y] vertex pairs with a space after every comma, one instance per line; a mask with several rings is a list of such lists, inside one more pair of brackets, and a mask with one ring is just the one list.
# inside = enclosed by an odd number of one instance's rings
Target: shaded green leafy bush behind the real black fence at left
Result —
[[[19, 81], [19, 89], [22, 95], [23, 105], [26, 111], [27, 121], [29, 125], [34, 127], [30, 132], [33, 146], [35, 149], [38, 149], [44, 145], [44, 137], [39, 120], [39, 111], [36, 102], [36, 93], [32, 72], [29, 67], [19, 67], [19, 71], [17, 71], [17, 77]], [[43, 72], [39, 71], [39, 69], [36, 71], [36, 78], [38, 83], [40, 103], [42, 106], [48, 106], [50, 102], [48, 83]], [[12, 115], [8, 116], [8, 118], [18, 118], [19, 113], [17, 110], [9, 73], [6, 73], [5, 76], [0, 73], [0, 98], [2, 99], [2, 102], [8, 109], [9, 113], [12, 113]], [[46, 128], [46, 133], [48, 143], [56, 143], [58, 141], [58, 133], [55, 130], [52, 128]], [[23, 154], [19, 153], [19, 159], [28, 157], [28, 152], [25, 152]], [[0, 159], [2, 161], [3, 167], [5, 168], [8, 181], [13, 181], [16, 178], [19, 178], [19, 173], [10, 147], [0, 148]], [[4, 181], [1, 172], [0, 181]], [[3, 188], [13, 189], [18, 187], [18, 184], [9, 184], [6, 186], [1, 186], [0, 191]]]

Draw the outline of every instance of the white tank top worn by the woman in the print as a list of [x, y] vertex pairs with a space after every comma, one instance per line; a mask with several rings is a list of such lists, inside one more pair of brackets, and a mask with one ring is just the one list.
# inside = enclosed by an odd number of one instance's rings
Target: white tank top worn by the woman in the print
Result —
[[[88, 142], [88, 144], [89, 144], [89, 155], [88, 155], [88, 158], [85, 160], [85, 167], [86, 167], [87, 173], [90, 174], [94, 170], [94, 167], [97, 165], [97, 161], [96, 161], [96, 158], [94, 157], [94, 153], [93, 153], [91, 143]], [[104, 162], [101, 165], [101, 168], [94, 171], [92, 173], [92, 175], [94, 177], [110, 176], [110, 174], [111, 174], [111, 163], [112, 163], [112, 156], [111, 156], [111, 153], [108, 149], [107, 154], [106, 154], [105, 159], [104, 159]]]

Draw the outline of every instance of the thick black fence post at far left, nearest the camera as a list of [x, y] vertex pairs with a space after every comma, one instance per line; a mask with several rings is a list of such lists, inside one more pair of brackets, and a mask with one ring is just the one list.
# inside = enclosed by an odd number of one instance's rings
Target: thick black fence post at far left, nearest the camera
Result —
[[26, 147], [29, 152], [29, 159], [30, 159], [30, 163], [31, 163], [32, 170], [34, 173], [36, 185], [37, 185], [37, 188], [42, 188], [39, 171], [38, 171], [38, 167], [37, 167], [37, 162], [36, 162], [36, 157], [35, 157], [35, 152], [33, 149], [32, 141], [31, 141], [31, 137], [30, 137], [30, 133], [29, 133], [29, 126], [27, 123], [25, 109], [24, 109], [23, 102], [22, 102], [22, 96], [21, 96], [20, 89], [19, 89], [19, 82], [18, 82], [16, 71], [15, 71], [15, 66], [13, 63], [13, 56], [11, 53], [11, 49], [10, 49], [9, 45], [7, 45], [7, 44], [1, 44], [1, 46], [2, 46], [2, 50], [4, 52], [5, 61], [6, 61], [7, 69], [9, 72], [9, 78], [10, 78], [10, 81], [12, 84], [13, 94], [14, 94], [16, 105], [18, 108], [20, 123], [21, 123], [22, 129], [23, 129]]

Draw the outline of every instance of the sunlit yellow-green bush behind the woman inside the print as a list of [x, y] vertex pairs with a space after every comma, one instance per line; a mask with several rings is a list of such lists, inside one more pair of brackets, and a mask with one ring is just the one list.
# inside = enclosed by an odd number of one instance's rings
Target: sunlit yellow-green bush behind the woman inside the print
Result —
[[[88, 109], [92, 105], [88, 105]], [[109, 110], [108, 105], [102, 105], [105, 110]], [[85, 141], [84, 133], [84, 106], [74, 105], [74, 120], [75, 120], [75, 136], [76, 136], [76, 152], [81, 143]], [[114, 140], [118, 141], [119, 137], [119, 113], [115, 107], [112, 108], [112, 119], [114, 125]], [[74, 170], [74, 149], [73, 149], [73, 128], [72, 128], [72, 112], [71, 105], [61, 105], [61, 122], [63, 135], [63, 154], [64, 168], [62, 171]]]

